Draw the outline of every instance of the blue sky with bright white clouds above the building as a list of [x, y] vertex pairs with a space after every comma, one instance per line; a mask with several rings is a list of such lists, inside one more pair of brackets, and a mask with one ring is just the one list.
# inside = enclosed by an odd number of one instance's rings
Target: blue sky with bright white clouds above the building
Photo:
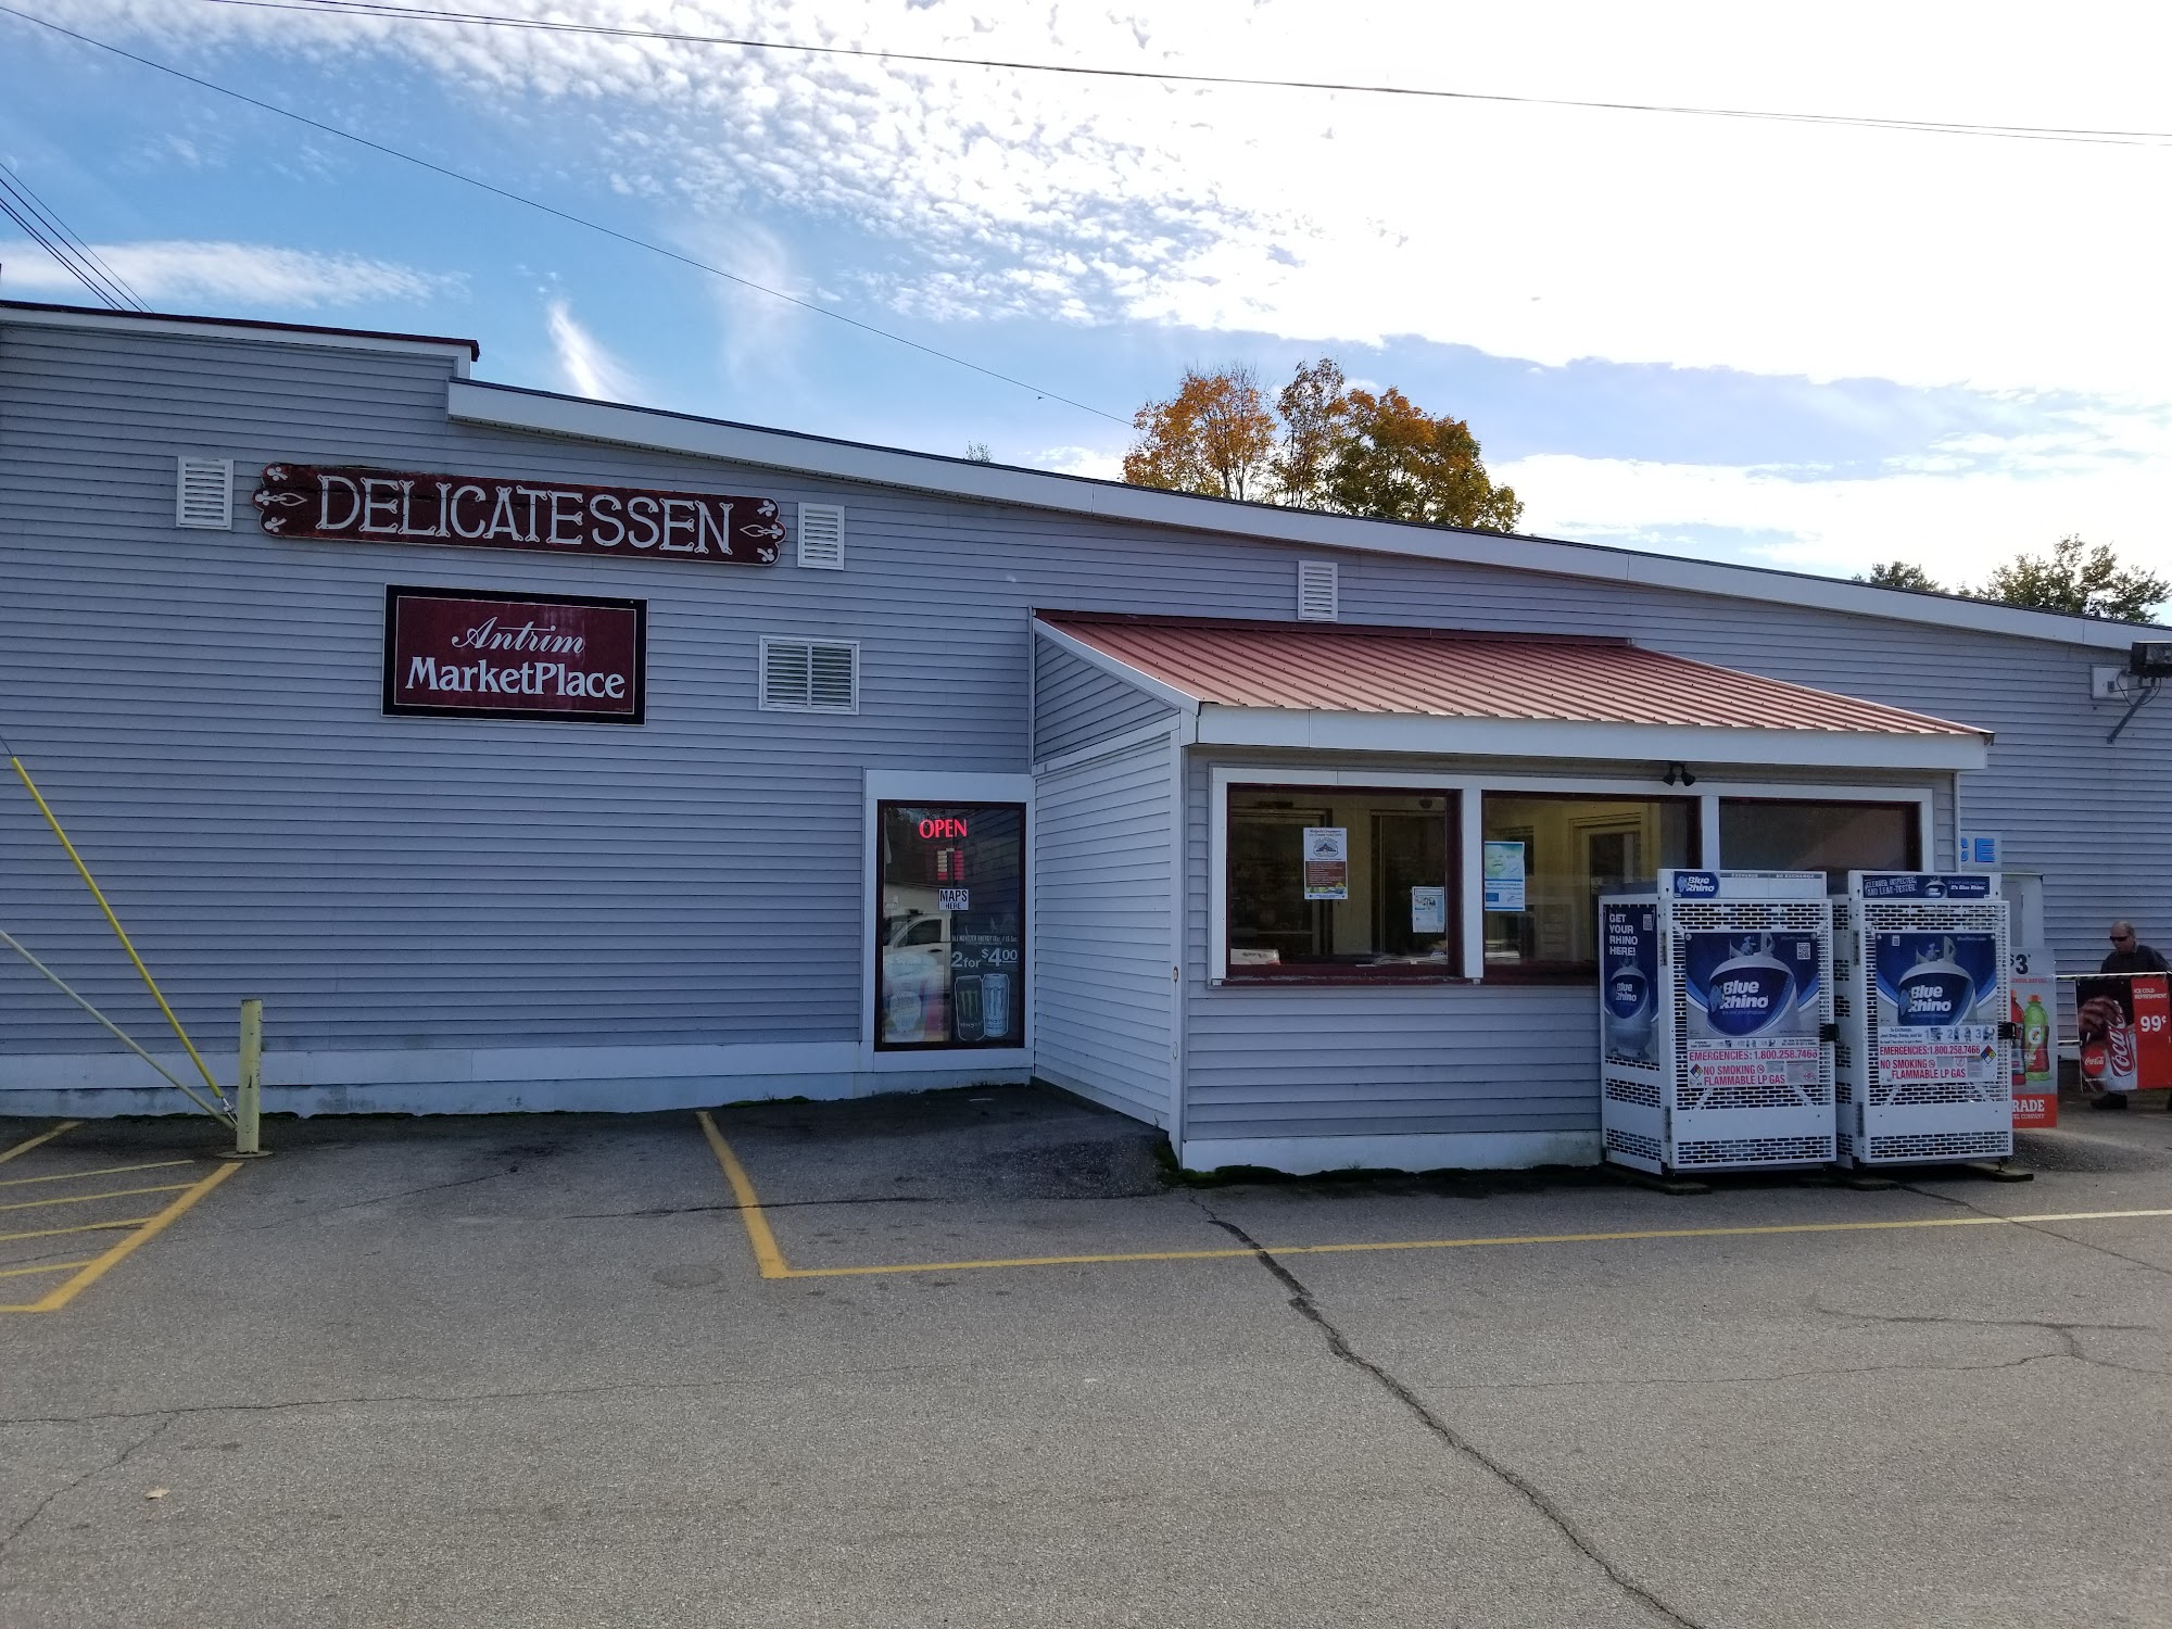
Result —
[[[1948, 580], [2172, 571], [2172, 141], [2018, 141], [665, 46], [26, 11], [1001, 384], [0, 15], [0, 163], [156, 308], [469, 334], [480, 376], [1114, 473], [1188, 363], [1466, 417], [1529, 530]], [[2172, 130], [2163, 9], [473, 0], [960, 56]], [[1156, 15], [1177, 11], [1177, 17]], [[2050, 30], [2050, 33], [2046, 33]], [[0, 235], [0, 293], [80, 302]], [[1056, 397], [1099, 408], [1069, 406]]]

